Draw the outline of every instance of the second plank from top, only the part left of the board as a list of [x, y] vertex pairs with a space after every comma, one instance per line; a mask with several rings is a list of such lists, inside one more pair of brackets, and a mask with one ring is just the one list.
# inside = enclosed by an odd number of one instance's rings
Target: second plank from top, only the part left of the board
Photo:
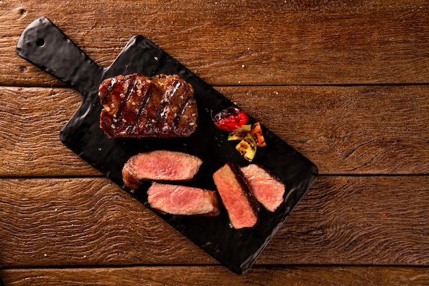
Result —
[[99, 174], [60, 141], [82, 103], [74, 90], [0, 87], [0, 176]]

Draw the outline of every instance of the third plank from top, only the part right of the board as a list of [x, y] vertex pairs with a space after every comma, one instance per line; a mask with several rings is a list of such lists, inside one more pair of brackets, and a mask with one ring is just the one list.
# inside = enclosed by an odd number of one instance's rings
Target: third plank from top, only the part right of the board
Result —
[[259, 261], [429, 265], [428, 186], [428, 176], [322, 176]]

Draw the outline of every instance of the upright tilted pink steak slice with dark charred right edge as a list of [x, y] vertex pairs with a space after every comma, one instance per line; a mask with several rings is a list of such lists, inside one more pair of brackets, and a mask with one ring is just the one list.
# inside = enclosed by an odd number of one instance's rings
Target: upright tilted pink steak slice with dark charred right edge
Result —
[[252, 196], [240, 167], [227, 163], [213, 174], [217, 191], [236, 229], [249, 228], [258, 220], [258, 202]]

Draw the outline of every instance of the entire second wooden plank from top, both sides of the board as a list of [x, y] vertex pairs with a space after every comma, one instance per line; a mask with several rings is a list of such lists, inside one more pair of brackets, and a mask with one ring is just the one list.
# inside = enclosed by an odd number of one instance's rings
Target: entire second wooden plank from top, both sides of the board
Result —
[[[320, 174], [429, 174], [429, 86], [217, 88]], [[98, 176], [59, 132], [82, 101], [69, 88], [0, 87], [0, 176]]]

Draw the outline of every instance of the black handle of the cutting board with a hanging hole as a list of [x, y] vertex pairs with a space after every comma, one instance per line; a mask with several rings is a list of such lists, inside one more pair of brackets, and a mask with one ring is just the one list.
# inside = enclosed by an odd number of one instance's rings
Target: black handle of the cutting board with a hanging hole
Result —
[[103, 69], [46, 17], [28, 25], [18, 40], [16, 53], [84, 97], [98, 88], [103, 78]]

